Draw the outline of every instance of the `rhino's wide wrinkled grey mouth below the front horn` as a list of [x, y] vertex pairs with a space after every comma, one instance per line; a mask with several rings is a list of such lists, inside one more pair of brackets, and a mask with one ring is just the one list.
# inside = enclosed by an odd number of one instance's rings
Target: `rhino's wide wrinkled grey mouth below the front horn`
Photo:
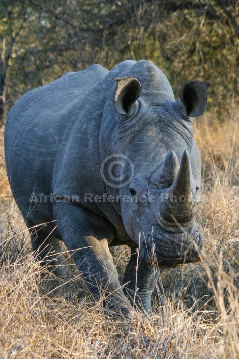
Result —
[[139, 259], [147, 263], [156, 262], [160, 268], [175, 268], [186, 263], [200, 261], [204, 250], [204, 237], [194, 229], [184, 234], [164, 233], [144, 237]]

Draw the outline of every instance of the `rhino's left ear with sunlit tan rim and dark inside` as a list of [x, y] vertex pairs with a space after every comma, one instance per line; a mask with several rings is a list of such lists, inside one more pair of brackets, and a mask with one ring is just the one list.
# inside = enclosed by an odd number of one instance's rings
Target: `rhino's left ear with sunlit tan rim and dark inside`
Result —
[[141, 94], [141, 85], [136, 78], [115, 78], [117, 90], [114, 97], [114, 108], [119, 114], [126, 115]]

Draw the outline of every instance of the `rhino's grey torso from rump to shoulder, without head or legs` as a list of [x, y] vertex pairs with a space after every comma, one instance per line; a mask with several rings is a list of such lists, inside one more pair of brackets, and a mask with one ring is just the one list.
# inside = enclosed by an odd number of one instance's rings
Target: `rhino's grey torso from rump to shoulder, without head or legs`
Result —
[[38, 200], [40, 194], [99, 193], [99, 130], [107, 92], [134, 63], [125, 61], [110, 72], [92, 65], [68, 73], [29, 91], [11, 109], [5, 128], [8, 177], [18, 206], [33, 223], [53, 219], [49, 199], [30, 203], [33, 192]]

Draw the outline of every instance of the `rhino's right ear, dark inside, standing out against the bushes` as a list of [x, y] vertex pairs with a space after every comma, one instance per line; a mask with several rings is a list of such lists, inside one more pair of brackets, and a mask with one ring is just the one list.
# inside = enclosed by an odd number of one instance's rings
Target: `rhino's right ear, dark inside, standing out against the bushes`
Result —
[[183, 104], [187, 117], [200, 116], [205, 111], [209, 85], [210, 82], [188, 81], [181, 87], [178, 106], [182, 109]]

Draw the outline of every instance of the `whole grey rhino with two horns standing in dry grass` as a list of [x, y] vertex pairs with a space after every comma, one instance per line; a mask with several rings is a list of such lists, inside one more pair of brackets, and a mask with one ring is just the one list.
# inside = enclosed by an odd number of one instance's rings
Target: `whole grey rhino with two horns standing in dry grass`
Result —
[[[103, 291], [114, 310], [127, 313], [133, 302], [150, 310], [157, 268], [199, 260], [196, 204], [163, 207], [160, 196], [175, 183], [183, 157], [188, 170], [181, 182], [188, 176], [188, 193], [199, 193], [201, 161], [191, 116], [206, 108], [207, 86], [186, 82], [175, 101], [167, 78], [150, 61], [124, 61], [111, 71], [92, 65], [28, 92], [8, 115], [8, 177], [36, 256], [57, 264], [54, 243], [63, 240], [94, 298]], [[116, 162], [104, 164], [108, 156]], [[94, 200], [106, 193], [119, 200]], [[109, 251], [122, 244], [131, 247], [123, 287]]]

